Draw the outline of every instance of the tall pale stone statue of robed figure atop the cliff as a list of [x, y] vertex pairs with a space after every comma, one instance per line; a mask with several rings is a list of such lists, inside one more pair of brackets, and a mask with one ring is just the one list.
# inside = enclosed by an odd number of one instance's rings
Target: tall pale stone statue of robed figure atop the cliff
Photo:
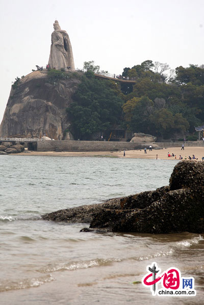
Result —
[[61, 30], [59, 22], [55, 20], [54, 32], [52, 33], [52, 44], [50, 47], [48, 65], [51, 69], [74, 70], [73, 53], [69, 36], [66, 31]]

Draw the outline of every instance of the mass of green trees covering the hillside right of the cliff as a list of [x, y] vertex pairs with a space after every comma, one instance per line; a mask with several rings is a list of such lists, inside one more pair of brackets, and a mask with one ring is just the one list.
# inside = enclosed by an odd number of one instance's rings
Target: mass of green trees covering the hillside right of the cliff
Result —
[[122, 76], [134, 77], [135, 85], [96, 79], [93, 72], [100, 67], [93, 61], [84, 68], [87, 72], [67, 108], [75, 138], [87, 139], [118, 125], [168, 138], [204, 125], [203, 65], [172, 70], [167, 63], [146, 60], [123, 69]]

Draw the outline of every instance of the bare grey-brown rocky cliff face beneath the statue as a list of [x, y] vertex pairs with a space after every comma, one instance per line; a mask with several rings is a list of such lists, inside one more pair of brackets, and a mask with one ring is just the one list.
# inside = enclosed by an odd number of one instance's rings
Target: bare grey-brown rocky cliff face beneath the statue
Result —
[[0, 126], [3, 137], [38, 137], [72, 140], [66, 107], [77, 90], [81, 73], [66, 72], [55, 79], [46, 70], [34, 71], [16, 81]]

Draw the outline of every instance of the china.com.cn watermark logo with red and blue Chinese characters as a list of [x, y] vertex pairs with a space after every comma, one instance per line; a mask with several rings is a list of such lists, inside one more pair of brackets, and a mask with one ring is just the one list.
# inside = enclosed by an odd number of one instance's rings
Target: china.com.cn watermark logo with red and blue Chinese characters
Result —
[[[184, 278], [178, 268], [171, 267], [161, 273], [157, 263], [153, 262], [146, 267], [147, 273], [142, 278], [142, 285], [149, 287], [152, 295], [184, 295], [195, 296], [194, 278]], [[158, 289], [158, 284], [162, 288]]]

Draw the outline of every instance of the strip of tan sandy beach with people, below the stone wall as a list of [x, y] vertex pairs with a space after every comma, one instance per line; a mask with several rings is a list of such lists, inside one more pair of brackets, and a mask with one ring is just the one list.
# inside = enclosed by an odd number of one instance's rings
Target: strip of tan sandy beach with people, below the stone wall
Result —
[[183, 159], [185, 156], [194, 154], [197, 160], [201, 160], [204, 156], [203, 147], [185, 147], [185, 150], [181, 150], [181, 147], [171, 147], [164, 148], [161, 150], [147, 150], [147, 153], [144, 153], [144, 150], [126, 150], [125, 157], [123, 157], [123, 151], [93, 151], [93, 152], [37, 152], [37, 151], [24, 151], [19, 154], [14, 155], [29, 155], [29, 156], [59, 156], [59, 157], [115, 157], [115, 158], [137, 158], [137, 159], [156, 159], [158, 154], [158, 159], [169, 159], [175, 160], [175, 157], [168, 157], [168, 152], [170, 154], [174, 153], [176, 160], [179, 159], [181, 155]]

